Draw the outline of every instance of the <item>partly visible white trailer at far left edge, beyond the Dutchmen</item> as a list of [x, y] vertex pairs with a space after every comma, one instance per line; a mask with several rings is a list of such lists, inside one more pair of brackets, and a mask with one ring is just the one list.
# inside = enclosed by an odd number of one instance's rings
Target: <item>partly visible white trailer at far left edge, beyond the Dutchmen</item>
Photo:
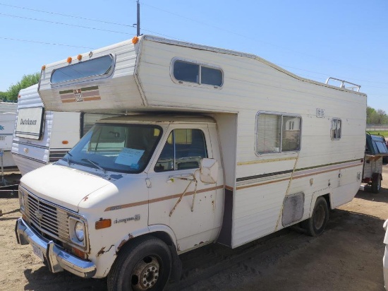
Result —
[[0, 102], [0, 150], [2, 150], [2, 157], [0, 157], [4, 169], [16, 170], [16, 163], [11, 155], [13, 128], [16, 119], [16, 103]]

